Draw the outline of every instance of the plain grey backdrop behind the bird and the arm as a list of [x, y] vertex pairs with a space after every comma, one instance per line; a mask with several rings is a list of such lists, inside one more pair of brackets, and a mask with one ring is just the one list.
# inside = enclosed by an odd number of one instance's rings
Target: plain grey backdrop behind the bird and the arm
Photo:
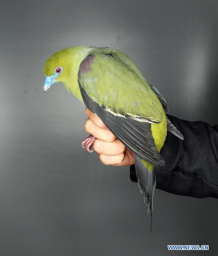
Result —
[[[129, 168], [81, 146], [84, 106], [43, 92], [45, 60], [75, 46], [126, 52], [169, 114], [218, 123], [217, 1], [0, 3], [0, 255], [217, 255], [217, 199], [156, 190], [149, 218]], [[167, 244], [208, 244], [168, 252]]]

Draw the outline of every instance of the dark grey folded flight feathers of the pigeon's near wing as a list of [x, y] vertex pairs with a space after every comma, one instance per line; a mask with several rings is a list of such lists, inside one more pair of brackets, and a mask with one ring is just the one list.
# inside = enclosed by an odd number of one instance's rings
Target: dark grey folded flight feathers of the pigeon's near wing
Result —
[[108, 112], [104, 106], [99, 106], [93, 101], [80, 82], [80, 92], [86, 107], [103, 121], [107, 128], [119, 139], [131, 152], [145, 161], [158, 166], [165, 161], [160, 156], [152, 137], [151, 124], [137, 121], [132, 118], [116, 116]]

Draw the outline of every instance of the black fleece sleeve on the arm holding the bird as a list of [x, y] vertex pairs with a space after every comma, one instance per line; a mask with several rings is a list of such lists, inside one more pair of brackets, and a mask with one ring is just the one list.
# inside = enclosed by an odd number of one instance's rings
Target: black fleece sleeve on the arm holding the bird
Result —
[[[165, 166], [154, 168], [156, 188], [183, 196], [218, 198], [218, 125], [167, 116], [184, 140], [167, 131], [160, 150]], [[130, 179], [137, 182], [135, 165], [130, 166]]]

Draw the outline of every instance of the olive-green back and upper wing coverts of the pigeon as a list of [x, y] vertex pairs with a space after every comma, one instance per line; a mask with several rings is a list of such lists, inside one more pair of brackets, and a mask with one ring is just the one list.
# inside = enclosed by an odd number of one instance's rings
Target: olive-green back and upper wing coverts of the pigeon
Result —
[[[101, 52], [99, 52], [99, 50]], [[103, 54], [103, 53], [107, 54]], [[83, 88], [100, 105], [119, 115], [162, 120], [162, 105], [136, 64], [123, 52], [110, 48], [90, 51], [90, 70], [80, 73]]]

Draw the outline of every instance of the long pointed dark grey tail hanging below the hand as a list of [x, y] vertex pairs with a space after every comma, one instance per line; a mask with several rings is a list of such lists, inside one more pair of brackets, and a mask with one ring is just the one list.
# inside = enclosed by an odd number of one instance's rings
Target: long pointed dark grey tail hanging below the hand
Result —
[[135, 168], [139, 190], [147, 206], [148, 214], [151, 214], [150, 239], [152, 241], [153, 196], [154, 189], [156, 187], [155, 173], [153, 170], [153, 165], [149, 163], [147, 163], [147, 165], [144, 164], [144, 160], [142, 160], [138, 156], [135, 156]]

